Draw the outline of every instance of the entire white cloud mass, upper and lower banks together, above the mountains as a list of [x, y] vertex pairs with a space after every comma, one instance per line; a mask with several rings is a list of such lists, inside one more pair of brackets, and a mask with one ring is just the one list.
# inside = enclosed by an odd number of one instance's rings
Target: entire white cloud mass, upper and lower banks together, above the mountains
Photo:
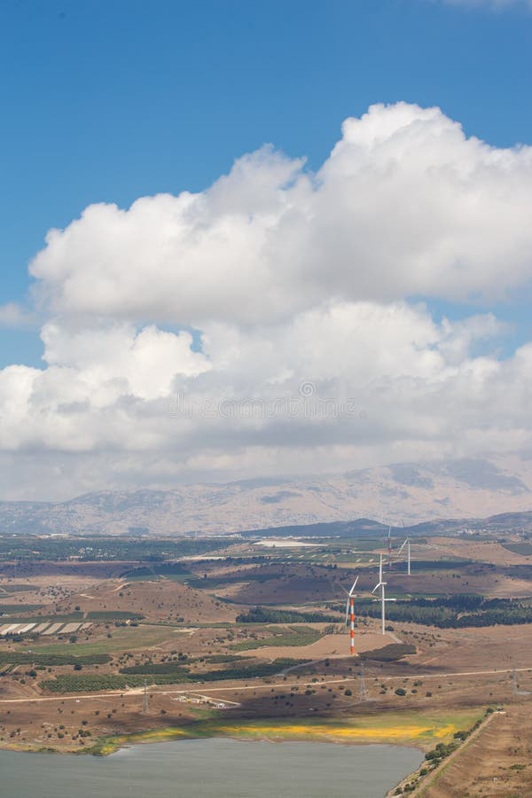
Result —
[[398, 103], [346, 120], [317, 173], [266, 146], [205, 192], [86, 208], [30, 264], [45, 367], [0, 372], [9, 479], [33, 458], [32, 496], [68, 496], [528, 448], [532, 344], [501, 358], [474, 302], [529, 286], [530, 207], [532, 148]]

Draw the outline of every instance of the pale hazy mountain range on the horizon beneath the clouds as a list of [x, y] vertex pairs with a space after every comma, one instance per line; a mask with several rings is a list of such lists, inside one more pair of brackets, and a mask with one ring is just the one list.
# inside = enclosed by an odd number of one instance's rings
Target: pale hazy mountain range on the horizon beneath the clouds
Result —
[[324, 478], [254, 479], [1, 502], [0, 530], [153, 535], [231, 533], [371, 518], [395, 525], [532, 508], [532, 460], [461, 459], [362, 469]]

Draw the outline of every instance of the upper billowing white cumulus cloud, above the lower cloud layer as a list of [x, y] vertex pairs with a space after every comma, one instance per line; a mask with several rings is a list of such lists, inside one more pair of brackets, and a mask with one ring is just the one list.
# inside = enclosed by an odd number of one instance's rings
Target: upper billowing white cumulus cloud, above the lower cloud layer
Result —
[[182, 325], [490, 298], [532, 277], [531, 202], [530, 147], [467, 138], [438, 108], [372, 106], [316, 174], [267, 147], [206, 192], [90, 206], [31, 272], [49, 312]]

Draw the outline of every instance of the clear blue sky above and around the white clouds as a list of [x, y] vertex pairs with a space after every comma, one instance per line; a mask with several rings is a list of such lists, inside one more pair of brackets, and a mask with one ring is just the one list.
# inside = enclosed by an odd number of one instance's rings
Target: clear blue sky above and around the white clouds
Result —
[[[5, 0], [0, 60], [0, 302], [23, 299], [46, 231], [90, 203], [198, 191], [264, 142], [316, 168], [374, 102], [441, 106], [493, 145], [532, 141], [520, 4]], [[519, 303], [501, 312], [527, 324]], [[35, 332], [0, 342], [4, 363], [38, 363]]]

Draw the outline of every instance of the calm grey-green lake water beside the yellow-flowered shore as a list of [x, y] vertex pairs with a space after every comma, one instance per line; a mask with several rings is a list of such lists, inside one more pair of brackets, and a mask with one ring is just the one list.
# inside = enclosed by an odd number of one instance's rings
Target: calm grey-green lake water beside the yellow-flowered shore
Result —
[[381, 798], [415, 748], [187, 739], [106, 756], [0, 751], [2, 798]]

